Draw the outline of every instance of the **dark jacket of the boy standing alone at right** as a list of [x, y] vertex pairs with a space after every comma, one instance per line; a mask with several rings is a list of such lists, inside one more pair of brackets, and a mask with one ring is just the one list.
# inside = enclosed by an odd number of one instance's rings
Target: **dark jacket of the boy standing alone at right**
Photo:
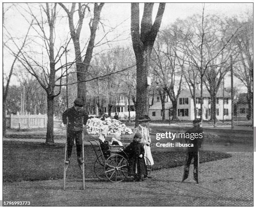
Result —
[[194, 147], [188, 147], [187, 151], [188, 152], [197, 152], [198, 151], [198, 148], [201, 147], [202, 145], [202, 142], [204, 140], [204, 132], [203, 132], [203, 129], [202, 127], [199, 127], [199, 126], [195, 126], [195, 127], [192, 127], [190, 128], [189, 130], [187, 130], [187, 132], [185, 134], [189, 133], [189, 135], [191, 136], [191, 134], [194, 134], [197, 133], [200, 137], [200, 134], [202, 135], [202, 138], [186, 138], [186, 143], [187, 144], [193, 144]]

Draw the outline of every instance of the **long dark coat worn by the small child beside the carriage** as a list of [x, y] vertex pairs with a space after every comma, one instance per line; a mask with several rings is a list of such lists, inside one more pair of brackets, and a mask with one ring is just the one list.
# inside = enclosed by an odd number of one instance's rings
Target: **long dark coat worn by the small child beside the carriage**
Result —
[[[146, 163], [144, 160], [144, 145], [133, 141], [127, 148], [125, 148], [125, 153], [128, 155], [128, 173], [131, 176], [134, 175], [145, 175], [146, 174]], [[139, 158], [139, 155], [143, 155]]]

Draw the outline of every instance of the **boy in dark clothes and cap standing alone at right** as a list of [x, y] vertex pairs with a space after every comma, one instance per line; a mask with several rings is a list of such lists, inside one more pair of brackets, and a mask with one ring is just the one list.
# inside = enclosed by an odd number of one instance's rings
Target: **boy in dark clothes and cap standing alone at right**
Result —
[[[187, 133], [189, 133], [190, 138], [186, 138], [186, 143], [187, 144], [193, 144], [194, 147], [188, 147], [187, 148], [187, 157], [186, 157], [186, 162], [185, 162], [185, 167], [184, 167], [184, 175], [183, 175], [183, 179], [182, 181], [184, 181], [185, 179], [188, 178], [189, 175], [189, 166], [190, 163], [192, 161], [192, 158], [194, 158], [194, 180], [197, 182], [198, 184], [198, 151], [199, 148], [201, 147], [201, 144], [204, 140], [204, 136], [203, 136], [203, 130], [202, 130], [202, 120], [201, 119], [195, 119], [193, 120], [193, 125], [194, 127], [190, 128], [189, 130], [187, 130], [187, 132], [185, 133], [185, 135]], [[191, 135], [195, 135], [195, 133], [197, 133], [199, 135], [198, 138], [193, 138], [191, 139]], [[200, 135], [202, 135], [202, 138], [200, 138]]]

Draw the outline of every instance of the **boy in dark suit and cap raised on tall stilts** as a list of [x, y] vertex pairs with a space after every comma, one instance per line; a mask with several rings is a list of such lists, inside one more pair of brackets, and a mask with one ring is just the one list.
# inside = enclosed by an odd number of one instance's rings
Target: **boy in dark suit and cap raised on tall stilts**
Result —
[[[67, 125], [67, 158], [66, 166], [69, 166], [74, 140], [76, 140], [77, 147], [77, 161], [79, 167], [82, 169], [82, 133], [83, 128], [87, 123], [88, 114], [83, 108], [83, 100], [75, 99], [74, 106], [65, 110], [62, 114], [62, 121]], [[68, 124], [67, 124], [68, 122]]]

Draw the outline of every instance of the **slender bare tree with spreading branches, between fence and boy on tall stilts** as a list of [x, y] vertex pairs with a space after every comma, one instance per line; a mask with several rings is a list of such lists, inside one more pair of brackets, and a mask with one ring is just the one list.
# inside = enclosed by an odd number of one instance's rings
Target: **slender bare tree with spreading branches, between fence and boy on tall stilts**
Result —
[[[64, 46], [60, 46], [55, 55], [55, 23], [56, 23], [56, 6], [57, 4], [46, 3], [45, 6], [40, 5], [40, 18], [38, 18], [34, 13], [30, 5], [27, 8], [23, 8], [36, 22], [33, 25], [34, 31], [38, 34], [38, 40], [33, 42], [33, 45], [29, 48], [23, 49], [21, 51], [18, 60], [23, 65], [23, 67], [33, 75], [41, 87], [45, 90], [47, 94], [47, 131], [46, 131], [46, 144], [54, 143], [54, 97], [57, 97], [61, 92], [61, 87], [59, 91], [55, 91], [56, 85], [61, 86], [61, 80], [65, 75], [63, 68], [68, 65], [69, 67], [73, 63], [66, 63], [61, 65], [61, 57], [67, 51], [68, 43]], [[26, 16], [23, 15], [25, 18]], [[27, 18], [26, 18], [27, 20]], [[47, 25], [49, 33], [46, 33], [45, 26]], [[35, 51], [33, 48], [36, 47], [43, 48], [41, 53]], [[46, 58], [44, 53], [46, 52]], [[57, 77], [56, 77], [57, 76]]]

